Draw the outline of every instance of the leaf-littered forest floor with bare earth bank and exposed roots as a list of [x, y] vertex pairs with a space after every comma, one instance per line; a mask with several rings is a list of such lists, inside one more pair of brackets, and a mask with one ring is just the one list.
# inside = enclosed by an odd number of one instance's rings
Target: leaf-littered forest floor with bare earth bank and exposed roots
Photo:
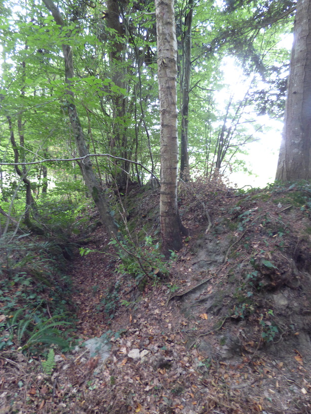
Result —
[[[139, 284], [116, 271], [90, 207], [93, 252], [68, 264], [81, 345], [50, 376], [1, 353], [1, 414], [311, 413], [309, 185], [241, 194], [198, 181], [179, 194], [190, 237], [169, 276]], [[159, 191], [123, 202], [133, 237], [157, 239]]]

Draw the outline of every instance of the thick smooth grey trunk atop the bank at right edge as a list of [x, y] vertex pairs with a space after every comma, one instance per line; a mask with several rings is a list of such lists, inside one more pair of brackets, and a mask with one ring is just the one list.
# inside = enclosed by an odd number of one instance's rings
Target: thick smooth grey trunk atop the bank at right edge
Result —
[[311, 2], [298, 0], [276, 179], [311, 179]]

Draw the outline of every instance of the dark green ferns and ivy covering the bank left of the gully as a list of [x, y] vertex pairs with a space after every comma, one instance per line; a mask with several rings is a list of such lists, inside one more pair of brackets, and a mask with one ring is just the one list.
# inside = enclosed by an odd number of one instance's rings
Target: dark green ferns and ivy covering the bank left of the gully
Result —
[[65, 259], [54, 243], [26, 236], [0, 239], [0, 349], [68, 348], [61, 331], [73, 324]]

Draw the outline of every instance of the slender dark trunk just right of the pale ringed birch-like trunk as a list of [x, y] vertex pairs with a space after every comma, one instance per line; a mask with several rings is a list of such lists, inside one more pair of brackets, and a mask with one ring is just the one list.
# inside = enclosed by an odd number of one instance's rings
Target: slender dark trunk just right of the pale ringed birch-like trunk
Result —
[[188, 158], [188, 115], [189, 90], [191, 75], [191, 28], [193, 0], [188, 1], [188, 12], [185, 17], [185, 36], [183, 39], [183, 68], [182, 68], [182, 103], [181, 103], [181, 137], [180, 137], [180, 176], [187, 180], [189, 175]]

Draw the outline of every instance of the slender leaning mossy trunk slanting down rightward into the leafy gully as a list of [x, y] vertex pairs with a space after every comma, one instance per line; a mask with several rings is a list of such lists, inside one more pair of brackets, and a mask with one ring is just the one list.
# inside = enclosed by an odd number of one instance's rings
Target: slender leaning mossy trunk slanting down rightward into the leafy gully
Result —
[[[58, 8], [54, 5], [52, 0], [43, 0], [45, 6], [52, 13], [56, 23], [61, 27], [64, 26], [64, 21]], [[80, 123], [79, 116], [74, 104], [74, 95], [71, 90], [71, 79], [74, 77], [73, 71], [73, 59], [71, 47], [67, 44], [62, 45], [64, 61], [65, 61], [65, 80], [67, 84], [67, 108], [70, 124], [74, 133], [75, 142], [79, 151], [80, 157], [88, 155], [87, 143], [84, 136], [84, 132]], [[101, 220], [103, 221], [109, 236], [117, 237], [118, 227], [116, 226], [112, 215], [110, 214], [110, 207], [104, 194], [104, 190], [101, 188], [100, 183], [95, 176], [94, 169], [89, 157], [79, 163], [82, 175], [84, 177], [86, 186], [92, 195], [92, 198], [96, 204]]]

